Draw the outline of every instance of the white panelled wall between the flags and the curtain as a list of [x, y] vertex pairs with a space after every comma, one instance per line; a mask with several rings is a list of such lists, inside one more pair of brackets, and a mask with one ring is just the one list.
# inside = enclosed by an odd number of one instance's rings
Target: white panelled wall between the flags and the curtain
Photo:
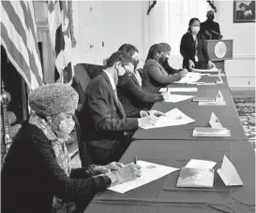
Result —
[[[98, 10], [97, 24], [86, 23], [84, 15], [88, 7]], [[140, 1], [75, 1], [74, 27], [77, 47], [73, 50], [74, 64], [102, 64], [124, 43], [130, 43], [140, 50], [143, 57], [143, 2]], [[84, 11], [86, 10], [86, 11]], [[94, 32], [94, 34], [92, 34]], [[104, 47], [102, 47], [102, 41]], [[90, 43], [95, 48], [89, 50]]]

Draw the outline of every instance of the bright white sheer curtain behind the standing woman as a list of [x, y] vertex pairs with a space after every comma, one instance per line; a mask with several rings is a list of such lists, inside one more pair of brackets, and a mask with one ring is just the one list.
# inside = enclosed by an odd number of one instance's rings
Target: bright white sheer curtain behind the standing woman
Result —
[[170, 64], [180, 67], [182, 56], [179, 46], [181, 37], [188, 30], [188, 21], [193, 17], [205, 21], [209, 9], [206, 0], [158, 0], [148, 17], [149, 46], [158, 42], [170, 44]]

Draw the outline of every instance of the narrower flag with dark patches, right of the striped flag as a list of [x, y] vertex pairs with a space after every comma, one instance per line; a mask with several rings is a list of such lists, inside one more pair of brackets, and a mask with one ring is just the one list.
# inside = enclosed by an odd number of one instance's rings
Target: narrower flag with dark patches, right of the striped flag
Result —
[[48, 22], [59, 74], [57, 82], [71, 82], [74, 76], [71, 64], [71, 1], [48, 1]]

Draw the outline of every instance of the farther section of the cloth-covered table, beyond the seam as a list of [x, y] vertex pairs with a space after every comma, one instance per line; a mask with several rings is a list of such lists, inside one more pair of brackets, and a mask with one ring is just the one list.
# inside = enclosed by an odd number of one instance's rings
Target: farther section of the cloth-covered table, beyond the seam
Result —
[[[186, 139], [186, 140], [206, 140], [208, 137], [194, 137], [192, 135], [195, 127], [207, 127], [211, 114], [214, 112], [223, 127], [231, 130], [230, 137], [214, 137], [216, 140], [245, 140], [247, 136], [244, 132], [243, 126], [239, 120], [238, 113], [233, 103], [233, 98], [229, 90], [226, 78], [223, 78], [223, 84], [215, 86], [205, 85], [188, 85], [188, 84], [172, 84], [170, 87], [197, 87], [198, 92], [173, 92], [183, 93], [188, 95], [194, 95], [198, 97], [216, 97], [218, 91], [220, 91], [226, 101], [225, 106], [199, 106], [198, 102], [193, 102], [192, 99], [188, 99], [178, 103], [166, 103], [158, 102], [152, 109], [156, 109], [162, 112], [167, 112], [173, 108], [178, 108], [188, 117], [195, 120], [195, 122], [181, 125], [181, 126], [170, 126], [165, 128], [157, 128], [144, 130], [138, 129], [133, 135], [134, 140], [152, 139], [152, 140], [168, 140], [168, 139]], [[203, 77], [202, 81], [214, 81], [213, 77]]]

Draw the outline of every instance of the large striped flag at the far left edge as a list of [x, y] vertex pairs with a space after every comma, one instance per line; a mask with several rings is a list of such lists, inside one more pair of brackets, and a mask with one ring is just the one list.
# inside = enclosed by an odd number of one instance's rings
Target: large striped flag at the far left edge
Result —
[[30, 90], [43, 84], [32, 1], [1, 1], [1, 45]]

